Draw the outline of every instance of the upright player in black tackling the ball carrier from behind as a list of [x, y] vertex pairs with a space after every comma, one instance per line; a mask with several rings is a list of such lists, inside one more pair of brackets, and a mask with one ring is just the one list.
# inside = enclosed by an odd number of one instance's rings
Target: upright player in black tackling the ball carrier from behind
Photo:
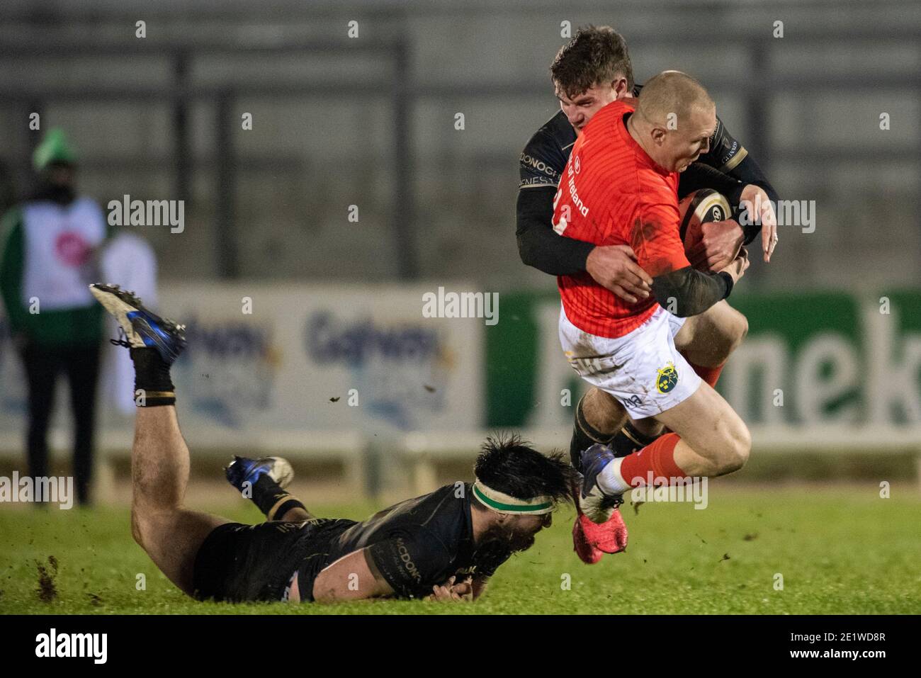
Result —
[[[531, 136], [520, 158], [517, 236], [521, 260], [551, 275], [588, 272], [625, 301], [647, 298], [653, 292], [652, 279], [635, 262], [629, 245], [596, 245], [564, 238], [551, 228], [554, 194], [578, 134], [604, 106], [635, 97], [642, 89], [634, 83], [624, 38], [608, 26], [579, 29], [556, 54], [551, 75], [561, 110]], [[682, 172], [679, 195], [702, 187], [726, 195], [730, 205], [737, 205], [736, 216], [741, 205], [752, 205], [753, 220], [745, 229], [730, 218], [706, 224], [699, 246], [688, 253], [691, 263], [719, 270], [735, 258], [743, 242], [752, 242], [759, 232], [764, 260], [769, 261], [777, 240], [774, 211], [767, 201], [776, 201], [777, 194], [758, 163], [718, 118], [707, 147]], [[659, 301], [667, 305], [665, 299]], [[745, 317], [721, 301], [681, 327], [675, 345], [694, 371], [716, 386], [729, 354], [747, 332]], [[662, 433], [654, 420], [627, 418], [624, 422], [622, 415], [623, 409], [608, 393], [589, 389], [576, 407], [570, 445], [573, 458], [593, 442], [611, 445], [615, 455], [622, 457]], [[602, 553], [622, 550], [626, 540], [626, 526], [618, 511], [604, 526], [579, 516], [573, 529], [577, 554], [587, 563], [598, 562]]]

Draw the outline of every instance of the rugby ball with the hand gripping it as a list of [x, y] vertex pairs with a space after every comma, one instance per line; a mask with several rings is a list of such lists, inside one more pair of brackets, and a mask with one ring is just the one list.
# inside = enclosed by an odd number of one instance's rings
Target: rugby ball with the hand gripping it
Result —
[[726, 196], [702, 188], [686, 195], [678, 210], [684, 253], [694, 268], [722, 271], [738, 256], [744, 235], [739, 224], [731, 220], [732, 207]]

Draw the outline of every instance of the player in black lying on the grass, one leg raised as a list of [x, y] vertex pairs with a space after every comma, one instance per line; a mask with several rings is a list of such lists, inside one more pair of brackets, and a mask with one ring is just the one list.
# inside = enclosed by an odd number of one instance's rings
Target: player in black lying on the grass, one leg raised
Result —
[[472, 600], [510, 555], [549, 527], [575, 478], [560, 454], [519, 438], [487, 438], [472, 484], [446, 485], [368, 520], [313, 518], [265, 464], [234, 465], [270, 517], [244, 525], [183, 506], [189, 450], [176, 418], [169, 366], [184, 327], [145, 310], [117, 286], [90, 290], [119, 322], [131, 349], [138, 404], [132, 448], [134, 540], [185, 593], [200, 600], [318, 601], [363, 598]]

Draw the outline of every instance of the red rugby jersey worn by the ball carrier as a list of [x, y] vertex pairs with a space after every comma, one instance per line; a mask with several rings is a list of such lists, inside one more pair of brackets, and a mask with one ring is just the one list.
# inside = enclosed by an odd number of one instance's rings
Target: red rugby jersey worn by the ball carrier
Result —
[[[624, 115], [631, 111], [614, 101], [583, 128], [554, 198], [554, 230], [596, 245], [630, 245], [656, 276], [691, 265], [679, 234], [678, 173], [660, 168], [630, 136]], [[556, 280], [566, 318], [597, 336], [624, 336], [659, 305], [652, 295], [630, 304], [586, 272]]]

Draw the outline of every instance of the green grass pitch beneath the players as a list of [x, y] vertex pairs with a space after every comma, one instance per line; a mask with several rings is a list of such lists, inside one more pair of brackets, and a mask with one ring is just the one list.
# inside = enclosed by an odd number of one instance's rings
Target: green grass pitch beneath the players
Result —
[[[741, 489], [710, 485], [707, 509], [627, 505], [627, 552], [585, 566], [572, 509], [501, 567], [473, 604], [373, 601], [195, 602], [131, 538], [127, 509], [0, 509], [5, 614], [919, 614], [921, 497], [863, 487]], [[256, 522], [242, 500], [210, 509]], [[362, 519], [380, 507], [310, 506]], [[146, 590], [137, 589], [138, 574]], [[778, 575], [783, 589], [776, 590]], [[567, 586], [568, 584], [568, 586]]]

